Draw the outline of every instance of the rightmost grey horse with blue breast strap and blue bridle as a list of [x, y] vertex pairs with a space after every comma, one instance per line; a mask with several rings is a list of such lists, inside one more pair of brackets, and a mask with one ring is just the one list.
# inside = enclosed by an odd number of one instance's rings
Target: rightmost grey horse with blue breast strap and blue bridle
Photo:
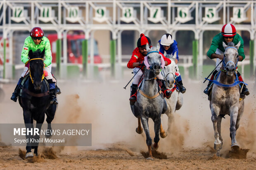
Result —
[[239, 81], [235, 70], [239, 55], [237, 49], [240, 42], [235, 46], [233, 42], [226, 45], [223, 42], [225, 49], [223, 64], [216, 74], [216, 80], [213, 80], [213, 87], [210, 98], [211, 121], [214, 128], [214, 149], [217, 150], [217, 156], [220, 156], [223, 139], [221, 137], [221, 119], [228, 114], [230, 116], [230, 137], [232, 150], [239, 149], [236, 140], [236, 131], [239, 128], [239, 121], [244, 112], [244, 100], [239, 100]]

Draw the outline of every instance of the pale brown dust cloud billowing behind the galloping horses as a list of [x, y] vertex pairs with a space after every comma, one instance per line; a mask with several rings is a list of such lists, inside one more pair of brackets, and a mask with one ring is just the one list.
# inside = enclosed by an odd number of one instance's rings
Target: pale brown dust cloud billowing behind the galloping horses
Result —
[[[81, 149], [106, 149], [116, 147], [127, 150], [131, 155], [147, 151], [145, 133], [135, 132], [137, 118], [129, 105], [129, 86], [123, 89], [132, 75], [119, 81], [104, 80], [83, 82], [78, 80], [61, 82], [58, 86], [59, 105], [52, 123], [92, 123], [91, 147], [54, 147], [57, 152], [73, 152]], [[256, 151], [255, 93], [253, 81], [246, 81], [251, 94], [245, 99], [244, 115], [237, 130], [240, 147]], [[213, 124], [209, 101], [203, 90], [207, 84], [202, 81], [183, 80], [187, 88], [183, 95], [183, 106], [173, 115], [173, 124], [168, 136], [160, 138], [159, 152], [178, 153], [182, 149], [206, 148], [210, 151], [214, 143]], [[9, 100], [15, 84], [3, 84], [5, 99], [0, 103], [0, 123], [24, 123], [22, 109], [18, 103]], [[222, 121], [223, 151], [230, 150], [229, 116]], [[162, 115], [167, 130], [168, 117]], [[149, 120], [150, 134], [154, 139], [153, 122]], [[25, 148], [25, 147], [24, 147]], [[209, 150], [210, 148], [210, 150]], [[40, 147], [39, 147], [40, 150]]]

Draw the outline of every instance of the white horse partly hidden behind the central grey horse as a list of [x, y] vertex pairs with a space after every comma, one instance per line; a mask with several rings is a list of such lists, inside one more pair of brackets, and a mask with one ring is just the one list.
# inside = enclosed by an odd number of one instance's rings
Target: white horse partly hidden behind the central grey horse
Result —
[[[166, 54], [167, 58], [171, 59], [171, 64], [166, 65], [164, 67], [164, 69], [162, 70], [162, 73], [164, 75], [164, 79], [167, 82], [167, 88], [172, 89], [172, 93], [171, 93], [171, 98], [169, 99], [165, 99], [167, 102], [167, 111], [165, 112], [165, 114], [168, 116], [168, 132], [171, 132], [171, 123], [173, 122], [173, 116], [176, 110], [179, 110], [182, 105], [183, 105], [183, 94], [180, 93], [179, 91], [176, 90], [176, 86], [175, 86], [175, 78], [177, 76], [178, 70], [177, 70], [177, 66], [175, 63], [175, 58], [176, 58], [176, 52], [175, 54], [169, 55]], [[162, 129], [160, 129], [161, 131]]]

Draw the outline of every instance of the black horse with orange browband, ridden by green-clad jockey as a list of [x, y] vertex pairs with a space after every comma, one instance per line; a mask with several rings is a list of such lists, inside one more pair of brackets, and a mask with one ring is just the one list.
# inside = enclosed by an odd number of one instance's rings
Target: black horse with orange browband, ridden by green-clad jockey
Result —
[[[41, 130], [42, 124], [47, 115], [47, 131], [52, 130], [51, 122], [55, 116], [57, 109], [56, 105], [50, 104], [49, 85], [44, 79], [44, 59], [45, 49], [41, 52], [40, 49], [33, 52], [28, 52], [29, 57], [29, 78], [25, 79], [22, 87], [21, 96], [19, 96], [19, 104], [23, 109], [24, 123], [28, 129], [33, 129], [33, 120], [36, 120], [36, 128]], [[50, 138], [52, 134], [46, 133], [45, 137]], [[38, 155], [38, 139], [39, 135], [26, 134], [26, 158]], [[38, 142], [31, 143], [30, 139], [35, 139]], [[34, 149], [34, 154], [31, 152]]]

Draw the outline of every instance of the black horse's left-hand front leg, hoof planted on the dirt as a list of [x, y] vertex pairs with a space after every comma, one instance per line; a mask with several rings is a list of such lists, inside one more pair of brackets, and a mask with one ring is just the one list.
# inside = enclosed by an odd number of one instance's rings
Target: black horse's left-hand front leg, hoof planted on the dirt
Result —
[[[26, 109], [23, 109], [23, 118], [24, 118], [24, 123], [25, 123], [25, 127], [26, 129], [31, 129], [33, 128], [33, 119], [31, 118], [31, 112], [29, 112], [28, 110]], [[31, 122], [31, 119], [32, 119], [32, 122]], [[25, 158], [28, 158], [28, 157], [33, 157], [33, 153], [31, 152], [31, 142], [30, 142], [30, 139], [33, 138], [33, 135], [31, 134], [27, 134], [26, 133], [26, 139], [28, 140], [27, 142], [27, 145], [26, 145], [26, 156]]]

